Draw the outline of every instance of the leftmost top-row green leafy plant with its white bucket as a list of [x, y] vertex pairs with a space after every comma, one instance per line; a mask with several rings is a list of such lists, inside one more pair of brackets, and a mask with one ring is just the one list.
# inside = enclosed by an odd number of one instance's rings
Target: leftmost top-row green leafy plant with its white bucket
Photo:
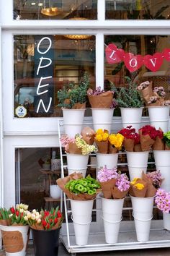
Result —
[[86, 91], [89, 88], [89, 74], [84, 72], [84, 77], [79, 85], [73, 83], [63, 86], [58, 90], [58, 106], [63, 110], [63, 123], [66, 135], [74, 137], [80, 134], [86, 110]]

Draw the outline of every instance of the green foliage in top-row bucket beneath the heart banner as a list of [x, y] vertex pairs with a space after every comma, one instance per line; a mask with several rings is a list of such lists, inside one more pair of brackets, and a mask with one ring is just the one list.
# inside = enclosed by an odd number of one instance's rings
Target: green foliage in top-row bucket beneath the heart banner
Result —
[[125, 77], [128, 87], [122, 87], [120, 91], [117, 90], [115, 85], [112, 83], [112, 90], [115, 91], [116, 103], [121, 108], [140, 108], [143, 106], [142, 98], [137, 90], [137, 84], [133, 82], [130, 77]]

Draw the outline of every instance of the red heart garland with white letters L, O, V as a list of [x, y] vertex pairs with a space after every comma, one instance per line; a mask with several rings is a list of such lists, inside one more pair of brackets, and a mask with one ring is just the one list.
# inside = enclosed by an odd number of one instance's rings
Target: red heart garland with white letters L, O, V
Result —
[[145, 65], [152, 72], [156, 72], [160, 69], [164, 59], [170, 61], [170, 48], [165, 48], [163, 53], [141, 56], [140, 54], [125, 53], [123, 49], [117, 48], [114, 43], [109, 43], [105, 49], [105, 54], [107, 63], [115, 64], [124, 61], [125, 67], [130, 72], [135, 72], [142, 65]]

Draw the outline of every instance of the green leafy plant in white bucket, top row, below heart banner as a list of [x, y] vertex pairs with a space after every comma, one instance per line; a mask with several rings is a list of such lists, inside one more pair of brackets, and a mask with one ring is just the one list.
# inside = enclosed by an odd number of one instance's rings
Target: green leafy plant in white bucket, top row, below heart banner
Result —
[[130, 77], [125, 77], [126, 87], [117, 90], [114, 84], [112, 89], [115, 90], [117, 107], [120, 108], [122, 116], [122, 127], [132, 125], [137, 131], [140, 129], [140, 122], [143, 111], [143, 99], [138, 91], [137, 83]]

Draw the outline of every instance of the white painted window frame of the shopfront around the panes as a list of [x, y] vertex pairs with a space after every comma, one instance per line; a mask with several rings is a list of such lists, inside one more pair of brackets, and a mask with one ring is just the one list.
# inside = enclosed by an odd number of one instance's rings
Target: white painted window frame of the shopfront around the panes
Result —
[[[104, 85], [104, 35], [170, 35], [169, 20], [104, 20], [105, 1], [98, 1], [98, 19], [12, 20], [13, 0], [0, 1], [1, 17], [1, 195], [6, 207], [15, 203], [15, 148], [58, 146], [57, 118], [14, 119], [13, 35], [96, 35], [96, 85]], [[3, 109], [3, 111], [2, 111]], [[2, 120], [3, 116], [3, 120]], [[2, 122], [3, 121], [3, 122]], [[3, 126], [2, 126], [3, 125]], [[3, 163], [4, 161], [4, 163]], [[3, 165], [3, 166], [2, 166]], [[0, 184], [1, 185], [1, 184]]]

